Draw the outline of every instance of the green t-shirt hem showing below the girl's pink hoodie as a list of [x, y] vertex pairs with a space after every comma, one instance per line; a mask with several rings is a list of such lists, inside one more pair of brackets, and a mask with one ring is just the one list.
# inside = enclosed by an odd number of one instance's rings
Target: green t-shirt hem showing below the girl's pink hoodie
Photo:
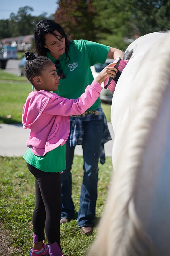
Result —
[[66, 169], [65, 144], [47, 152], [45, 156], [36, 156], [28, 148], [23, 158], [28, 164], [44, 172], [61, 172]]

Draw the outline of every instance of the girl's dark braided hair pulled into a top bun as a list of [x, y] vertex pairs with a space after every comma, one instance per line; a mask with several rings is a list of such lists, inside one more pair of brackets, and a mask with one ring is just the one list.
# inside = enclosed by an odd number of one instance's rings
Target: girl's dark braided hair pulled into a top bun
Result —
[[25, 57], [27, 62], [24, 67], [24, 74], [32, 84], [32, 78], [41, 76], [42, 71], [51, 60], [45, 56], [35, 56], [33, 52], [25, 52]]

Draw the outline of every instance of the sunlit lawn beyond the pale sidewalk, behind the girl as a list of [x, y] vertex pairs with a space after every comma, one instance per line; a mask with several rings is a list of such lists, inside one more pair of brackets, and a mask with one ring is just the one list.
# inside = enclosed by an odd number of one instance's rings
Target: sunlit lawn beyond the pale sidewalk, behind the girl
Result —
[[[31, 84], [26, 83], [26, 78], [0, 70], [0, 123], [22, 122], [22, 108], [31, 90]], [[104, 103], [101, 105], [110, 122], [111, 106]]]

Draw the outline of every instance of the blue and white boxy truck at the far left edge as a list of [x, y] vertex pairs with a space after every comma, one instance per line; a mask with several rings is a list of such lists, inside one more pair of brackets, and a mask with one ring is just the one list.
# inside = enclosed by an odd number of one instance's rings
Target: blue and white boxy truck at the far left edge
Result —
[[5, 69], [9, 59], [17, 59], [17, 47], [4, 45], [0, 48], [0, 68]]

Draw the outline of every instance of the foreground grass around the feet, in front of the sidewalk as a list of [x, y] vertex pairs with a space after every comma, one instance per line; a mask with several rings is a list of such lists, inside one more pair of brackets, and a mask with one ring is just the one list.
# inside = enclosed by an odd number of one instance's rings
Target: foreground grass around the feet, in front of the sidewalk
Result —
[[[79, 196], [83, 177], [83, 159], [74, 157], [72, 167], [73, 202], [77, 215]], [[98, 222], [106, 201], [107, 188], [112, 171], [111, 158], [106, 158], [104, 165], [99, 164], [98, 200], [95, 223]], [[10, 256], [27, 256], [32, 248], [32, 214], [35, 205], [34, 177], [27, 170], [22, 157], [0, 157], [0, 224], [4, 234], [8, 231], [10, 244], [14, 252]], [[96, 228], [92, 235], [83, 236], [76, 220], [61, 225], [61, 246], [67, 256], [83, 256], [96, 236]], [[6, 255], [6, 254], [5, 254]]]

